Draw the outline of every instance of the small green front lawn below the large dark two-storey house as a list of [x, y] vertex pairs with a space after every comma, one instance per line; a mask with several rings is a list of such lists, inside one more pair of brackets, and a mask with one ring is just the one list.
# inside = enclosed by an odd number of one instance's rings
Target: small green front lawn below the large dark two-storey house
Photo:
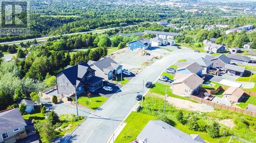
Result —
[[96, 97], [79, 97], [77, 99], [78, 104], [83, 105], [83, 106], [87, 106], [93, 110], [97, 109], [102, 103], [104, 103], [108, 98], [104, 97], [104, 96], [96, 96]]

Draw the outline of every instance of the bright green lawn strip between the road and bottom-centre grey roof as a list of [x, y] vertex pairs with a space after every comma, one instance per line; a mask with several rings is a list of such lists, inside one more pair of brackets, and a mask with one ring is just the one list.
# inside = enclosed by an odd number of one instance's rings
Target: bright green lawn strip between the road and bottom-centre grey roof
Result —
[[115, 142], [131, 142], [136, 139], [142, 129], [150, 120], [155, 117], [144, 113], [131, 112], [129, 117], [124, 121], [126, 126], [120, 132]]

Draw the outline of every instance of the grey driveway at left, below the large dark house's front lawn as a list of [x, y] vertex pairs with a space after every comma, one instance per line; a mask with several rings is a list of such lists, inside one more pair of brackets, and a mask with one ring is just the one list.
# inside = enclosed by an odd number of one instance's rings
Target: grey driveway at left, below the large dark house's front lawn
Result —
[[[62, 103], [58, 103], [58, 104], [45, 103], [44, 105], [47, 108], [51, 108], [52, 110], [54, 110], [58, 115], [70, 114], [70, 113], [73, 113], [74, 115], [76, 115], [76, 105], [72, 104], [71, 102], [62, 102]], [[93, 112], [93, 110], [78, 104], [78, 115], [79, 116], [87, 117], [92, 112]]]

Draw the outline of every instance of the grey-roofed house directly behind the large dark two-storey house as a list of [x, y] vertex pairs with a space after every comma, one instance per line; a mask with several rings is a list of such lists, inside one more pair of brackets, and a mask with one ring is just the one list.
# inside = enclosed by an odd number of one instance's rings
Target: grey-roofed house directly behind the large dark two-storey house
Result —
[[116, 63], [110, 57], [95, 61], [89, 61], [88, 64], [95, 70], [95, 75], [105, 80], [110, 80], [119, 74], [122, 74], [122, 66]]

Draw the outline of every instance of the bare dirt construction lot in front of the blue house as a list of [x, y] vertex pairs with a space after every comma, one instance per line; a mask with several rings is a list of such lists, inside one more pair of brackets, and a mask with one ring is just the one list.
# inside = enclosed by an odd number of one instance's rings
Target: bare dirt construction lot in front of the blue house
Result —
[[118, 64], [123, 66], [123, 69], [134, 70], [143, 69], [143, 63], [150, 61], [154, 57], [164, 57], [170, 52], [162, 48], [151, 48], [146, 50], [150, 55], [142, 56], [142, 50], [130, 51], [127, 48], [114, 52], [110, 57], [114, 59]]

